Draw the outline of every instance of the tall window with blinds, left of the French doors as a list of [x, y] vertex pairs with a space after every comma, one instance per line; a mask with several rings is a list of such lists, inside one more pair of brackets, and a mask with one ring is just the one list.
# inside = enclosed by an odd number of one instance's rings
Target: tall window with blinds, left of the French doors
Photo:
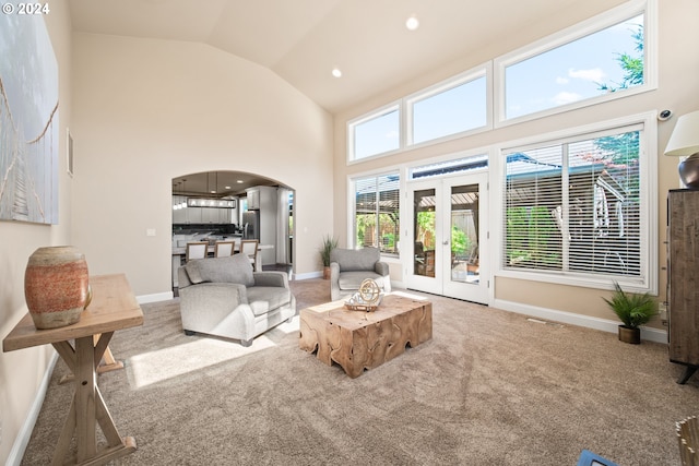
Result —
[[354, 181], [354, 238], [357, 247], [376, 247], [398, 254], [400, 238], [400, 177], [398, 174]]

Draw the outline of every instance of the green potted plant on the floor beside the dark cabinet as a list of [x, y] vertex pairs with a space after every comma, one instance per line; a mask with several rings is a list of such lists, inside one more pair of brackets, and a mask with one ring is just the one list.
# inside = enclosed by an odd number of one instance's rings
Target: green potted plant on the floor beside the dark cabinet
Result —
[[618, 283], [614, 283], [612, 299], [602, 298], [619, 318], [619, 340], [641, 343], [641, 325], [647, 324], [656, 313], [655, 300], [647, 292], [637, 295], [625, 292]]

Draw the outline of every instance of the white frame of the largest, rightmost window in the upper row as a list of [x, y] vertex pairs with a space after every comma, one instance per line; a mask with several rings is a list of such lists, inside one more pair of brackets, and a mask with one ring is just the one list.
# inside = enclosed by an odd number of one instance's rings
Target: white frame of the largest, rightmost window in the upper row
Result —
[[[507, 118], [506, 113], [506, 82], [505, 70], [514, 63], [525, 61], [535, 56], [553, 50], [562, 45], [576, 41], [585, 36], [600, 32], [604, 28], [618, 24], [630, 17], [643, 13], [643, 81], [638, 86], [620, 89], [614, 93], [602, 94], [596, 97], [581, 99], [567, 105], [514, 117]], [[604, 101], [628, 97], [630, 95], [645, 93], [657, 88], [657, 0], [632, 0], [612, 10], [605, 11], [578, 23], [571, 27], [544, 37], [510, 53], [498, 57], [494, 60], [495, 80], [495, 128], [507, 127], [521, 123], [522, 121], [534, 120], [564, 111], [589, 107]]]

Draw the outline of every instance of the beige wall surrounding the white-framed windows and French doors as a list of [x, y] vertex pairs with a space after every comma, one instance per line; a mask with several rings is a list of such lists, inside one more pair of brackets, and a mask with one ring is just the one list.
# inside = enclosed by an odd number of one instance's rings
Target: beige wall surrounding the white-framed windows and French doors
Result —
[[[619, 1], [615, 1], [620, 3]], [[424, 160], [431, 157], [447, 156], [462, 151], [477, 147], [487, 147], [507, 141], [516, 141], [521, 138], [544, 134], [561, 129], [574, 128], [603, 120], [612, 120], [628, 115], [636, 115], [649, 110], [671, 109], [676, 116], [699, 109], [699, 55], [696, 48], [696, 34], [694, 34], [694, 20], [699, 17], [699, 2], [696, 0], [659, 1], [660, 9], [660, 72], [659, 88], [653, 92], [621, 98], [615, 101], [601, 104], [579, 110], [559, 113], [548, 118], [541, 118], [513, 124], [507, 128], [484, 132], [473, 136], [454, 139], [441, 144], [424, 146], [404, 151], [400, 154], [379, 157], [365, 163], [347, 166], [346, 159], [346, 123], [358, 116], [379, 108], [398, 98], [410, 95], [430, 84], [440, 82], [447, 77], [466, 71], [473, 67], [497, 58], [500, 55], [523, 47], [546, 34], [552, 34], [567, 26], [585, 20], [605, 9], [612, 8], [609, 2], [579, 2], [574, 8], [566, 9], [556, 16], [542, 17], [537, 24], [523, 25], [512, 31], [511, 35], [502, 37], [499, 41], [488, 44], [472, 56], [459, 57], [452, 63], [442, 69], [434, 70], [428, 75], [406, 82], [390, 91], [390, 94], [376, 96], [367, 101], [335, 115], [335, 170], [334, 170], [334, 231], [342, 243], [347, 241], [347, 177], [356, 174], [376, 172], [390, 167], [414, 160]], [[594, 10], [593, 10], [594, 9]], [[653, 244], [659, 251], [660, 296], [665, 296], [666, 275], [663, 270], [666, 255], [663, 240], [665, 239], [666, 202], [668, 189], [678, 188], [677, 159], [664, 157], [667, 139], [675, 124], [676, 117], [661, 122], [657, 126], [657, 229], [659, 243]], [[493, 206], [493, 212], [498, 212], [498, 206]], [[490, 215], [496, 218], [497, 215]], [[491, 238], [491, 243], [497, 243], [497, 238]], [[391, 277], [393, 280], [403, 279], [400, 264], [392, 264]], [[558, 310], [582, 314], [593, 318], [615, 319], [606, 304], [601, 299], [603, 291], [591, 288], [559, 286], [548, 283], [519, 280], [512, 278], [493, 277], [495, 287], [495, 300], [491, 304], [502, 306], [508, 302], [531, 308]], [[655, 321], [654, 325], [661, 326]]]

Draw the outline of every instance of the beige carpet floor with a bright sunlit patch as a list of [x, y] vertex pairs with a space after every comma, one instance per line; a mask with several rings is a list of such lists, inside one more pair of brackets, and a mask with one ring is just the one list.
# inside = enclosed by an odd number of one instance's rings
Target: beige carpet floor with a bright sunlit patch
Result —
[[[298, 309], [322, 279], [292, 283]], [[417, 294], [419, 295], [419, 294]], [[434, 337], [350, 379], [298, 349], [298, 316], [249, 348], [186, 336], [177, 299], [117, 332], [123, 370], [99, 375], [123, 465], [678, 465], [676, 420], [699, 414], [699, 375], [676, 383], [665, 345], [443, 297]], [[49, 464], [72, 396], [59, 361], [22, 462]]]

